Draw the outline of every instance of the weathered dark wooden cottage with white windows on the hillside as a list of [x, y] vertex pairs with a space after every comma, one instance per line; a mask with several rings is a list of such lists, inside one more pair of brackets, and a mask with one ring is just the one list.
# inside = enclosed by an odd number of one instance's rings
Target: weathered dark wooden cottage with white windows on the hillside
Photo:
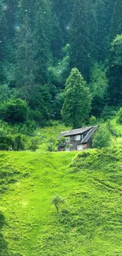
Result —
[[75, 130], [61, 132], [57, 140], [61, 141], [58, 144], [58, 151], [85, 150], [92, 147], [92, 135], [98, 129], [98, 126], [83, 127]]

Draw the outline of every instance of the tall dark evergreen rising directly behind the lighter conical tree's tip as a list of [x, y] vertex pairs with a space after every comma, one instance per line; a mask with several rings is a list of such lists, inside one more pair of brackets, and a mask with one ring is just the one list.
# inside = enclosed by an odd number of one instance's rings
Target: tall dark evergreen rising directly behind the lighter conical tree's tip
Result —
[[90, 78], [91, 68], [90, 10], [91, 0], [74, 1], [70, 66], [76, 66], [86, 80]]

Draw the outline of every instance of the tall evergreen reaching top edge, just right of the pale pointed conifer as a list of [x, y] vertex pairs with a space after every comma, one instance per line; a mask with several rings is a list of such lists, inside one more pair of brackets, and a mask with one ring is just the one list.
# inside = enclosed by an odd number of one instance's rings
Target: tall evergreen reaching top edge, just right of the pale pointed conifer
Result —
[[47, 67], [50, 64], [52, 54], [50, 52], [50, 40], [52, 35], [51, 26], [51, 2], [50, 0], [37, 0], [38, 10], [35, 17], [35, 61], [37, 72], [36, 83], [46, 83]]

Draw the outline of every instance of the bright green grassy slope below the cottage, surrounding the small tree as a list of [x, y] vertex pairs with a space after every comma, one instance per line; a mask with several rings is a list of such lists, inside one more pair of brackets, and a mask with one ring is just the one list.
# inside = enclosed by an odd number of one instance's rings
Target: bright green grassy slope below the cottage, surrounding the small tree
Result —
[[122, 255], [122, 148], [1, 152], [0, 165], [1, 256]]

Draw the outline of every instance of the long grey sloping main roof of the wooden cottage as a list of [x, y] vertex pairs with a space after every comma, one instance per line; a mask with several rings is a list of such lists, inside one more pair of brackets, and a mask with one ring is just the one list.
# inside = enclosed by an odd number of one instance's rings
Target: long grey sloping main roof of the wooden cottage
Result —
[[82, 134], [83, 132], [87, 132], [89, 130], [91, 130], [91, 128], [94, 128], [94, 126], [89, 126], [89, 127], [83, 127], [83, 128], [79, 128], [79, 129], [74, 129], [74, 130], [70, 130], [70, 131], [65, 131], [65, 132], [61, 132], [61, 134], [58, 136], [58, 139], [61, 136], [71, 136], [71, 135], [79, 135]]

